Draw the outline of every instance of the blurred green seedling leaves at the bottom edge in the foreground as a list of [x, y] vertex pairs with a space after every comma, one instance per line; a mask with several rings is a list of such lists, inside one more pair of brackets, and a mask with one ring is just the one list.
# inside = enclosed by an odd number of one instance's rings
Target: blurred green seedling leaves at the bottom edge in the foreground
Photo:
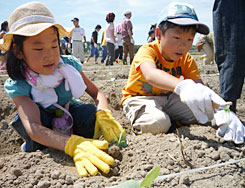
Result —
[[153, 168], [143, 179], [142, 182], [129, 180], [121, 183], [113, 188], [141, 188], [141, 187], [151, 187], [152, 182], [158, 177], [160, 173], [160, 166]]

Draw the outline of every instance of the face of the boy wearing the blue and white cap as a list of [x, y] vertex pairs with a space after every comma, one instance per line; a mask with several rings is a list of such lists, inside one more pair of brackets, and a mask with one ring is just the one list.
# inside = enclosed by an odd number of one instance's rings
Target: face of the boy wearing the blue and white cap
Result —
[[161, 55], [167, 61], [177, 61], [191, 48], [196, 31], [183, 30], [180, 27], [169, 28], [164, 34], [156, 28], [156, 36], [159, 40]]

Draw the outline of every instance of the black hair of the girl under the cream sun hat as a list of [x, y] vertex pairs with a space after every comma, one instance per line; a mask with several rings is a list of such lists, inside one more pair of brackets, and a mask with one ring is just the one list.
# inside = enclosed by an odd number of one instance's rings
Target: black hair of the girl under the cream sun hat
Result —
[[[60, 40], [59, 40], [59, 32], [58, 29], [53, 26], [54, 30], [57, 33], [58, 38], [58, 46], [60, 46]], [[6, 69], [8, 72], [8, 75], [13, 80], [24, 80], [25, 79], [25, 61], [23, 59], [19, 59], [15, 56], [16, 50], [18, 53], [23, 53], [23, 43], [27, 39], [25, 36], [20, 35], [13, 35], [13, 40], [10, 46], [10, 49], [7, 52], [7, 63], [6, 63]]]

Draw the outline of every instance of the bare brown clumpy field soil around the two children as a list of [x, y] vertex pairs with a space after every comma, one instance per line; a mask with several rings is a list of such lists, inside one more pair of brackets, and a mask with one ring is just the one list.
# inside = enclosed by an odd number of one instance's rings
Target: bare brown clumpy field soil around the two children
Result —
[[[216, 65], [203, 66], [198, 56], [197, 64], [206, 85], [219, 93], [219, 76]], [[130, 66], [96, 65], [92, 60], [83, 65], [85, 74], [106, 94], [113, 116], [126, 129], [129, 145], [126, 148], [111, 146], [107, 151], [115, 158], [115, 165], [108, 175], [80, 177], [71, 157], [54, 149], [32, 153], [20, 151], [23, 140], [10, 122], [16, 114], [12, 100], [5, 93], [3, 83], [6, 72], [0, 73], [0, 188], [46, 188], [79, 187], [102, 188], [118, 185], [127, 180], [142, 180], [156, 166], [160, 175], [178, 173], [191, 168], [207, 167], [245, 157], [244, 144], [235, 145], [215, 136], [214, 125], [191, 125], [180, 127], [179, 134], [184, 145], [185, 162], [181, 155], [176, 130], [169, 134], [144, 134], [132, 136], [130, 124], [121, 107], [121, 89], [127, 82]], [[245, 120], [244, 89], [238, 100], [237, 115]], [[93, 100], [84, 95], [84, 103]], [[245, 187], [245, 162], [215, 167], [185, 175], [160, 179], [152, 187]]]

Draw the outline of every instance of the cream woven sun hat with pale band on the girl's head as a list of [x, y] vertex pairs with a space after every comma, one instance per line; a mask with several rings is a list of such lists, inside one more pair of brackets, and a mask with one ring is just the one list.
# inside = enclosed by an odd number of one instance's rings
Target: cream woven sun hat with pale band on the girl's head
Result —
[[35, 36], [49, 27], [58, 29], [60, 39], [69, 33], [59, 24], [55, 23], [54, 16], [40, 2], [29, 2], [16, 8], [9, 17], [9, 32], [0, 40], [0, 49], [8, 51], [13, 35]]

